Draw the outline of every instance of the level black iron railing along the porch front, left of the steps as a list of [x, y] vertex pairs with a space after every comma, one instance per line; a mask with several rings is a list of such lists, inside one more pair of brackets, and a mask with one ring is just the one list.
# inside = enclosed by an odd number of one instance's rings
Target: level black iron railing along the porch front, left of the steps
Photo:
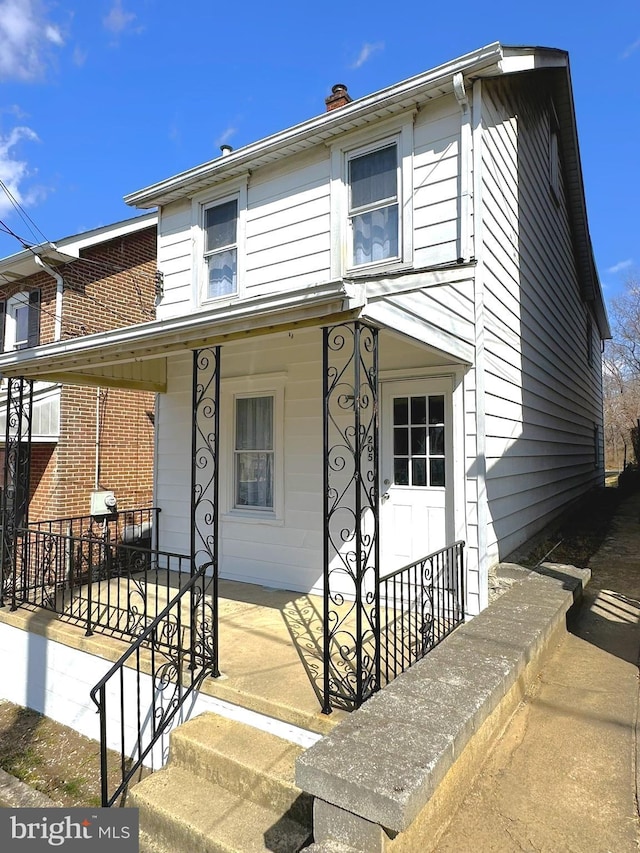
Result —
[[[126, 528], [125, 528], [126, 529]], [[17, 528], [5, 596], [85, 629], [137, 637], [191, 576], [190, 557], [104, 535]]]

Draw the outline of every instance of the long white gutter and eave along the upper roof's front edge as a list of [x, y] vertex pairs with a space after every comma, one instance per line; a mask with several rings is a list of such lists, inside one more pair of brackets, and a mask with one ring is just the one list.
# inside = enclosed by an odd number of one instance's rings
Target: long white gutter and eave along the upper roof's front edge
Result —
[[[269, 152], [280, 150], [282, 156], [285, 156], [288, 153], [286, 149], [296, 142], [308, 140], [309, 144], [317, 144], [321, 141], [320, 134], [330, 138], [340, 133], [343, 125], [353, 129], [359, 124], [366, 124], [376, 110], [394, 103], [401, 103], [408, 98], [420, 100], [430, 89], [438, 88], [443, 84], [451, 86], [453, 75], [456, 73], [462, 72], [465, 75], [489, 73], [489, 69], [494, 66], [495, 73], [500, 73], [499, 63], [502, 58], [502, 45], [494, 42], [430, 71], [381, 89], [372, 95], [358, 98], [340, 109], [322, 113], [301, 124], [238, 148], [224, 157], [217, 157], [215, 160], [130, 193], [124, 197], [124, 201], [133, 207], [144, 208], [166, 203], [167, 200], [175, 200], [174, 194], [177, 192], [187, 196], [192, 185], [209, 177], [213, 181], [218, 173], [232, 176], [236, 174], [238, 168], [250, 168], [252, 161]], [[168, 198], [170, 195], [173, 196], [172, 199]]]

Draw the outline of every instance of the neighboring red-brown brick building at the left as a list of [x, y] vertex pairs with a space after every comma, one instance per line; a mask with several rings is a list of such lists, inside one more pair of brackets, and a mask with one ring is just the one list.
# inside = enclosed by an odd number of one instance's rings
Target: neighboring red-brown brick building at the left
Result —
[[[156, 216], [148, 214], [0, 260], [0, 350], [153, 320]], [[88, 515], [91, 494], [119, 509], [153, 497], [155, 395], [99, 385], [34, 385], [31, 521]], [[0, 387], [0, 462], [5, 393]]]

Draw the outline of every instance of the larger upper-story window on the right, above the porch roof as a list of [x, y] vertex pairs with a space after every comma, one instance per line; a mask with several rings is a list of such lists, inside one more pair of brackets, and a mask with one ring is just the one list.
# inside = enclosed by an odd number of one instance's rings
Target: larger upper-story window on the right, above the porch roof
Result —
[[350, 266], [399, 257], [398, 146], [348, 160]]

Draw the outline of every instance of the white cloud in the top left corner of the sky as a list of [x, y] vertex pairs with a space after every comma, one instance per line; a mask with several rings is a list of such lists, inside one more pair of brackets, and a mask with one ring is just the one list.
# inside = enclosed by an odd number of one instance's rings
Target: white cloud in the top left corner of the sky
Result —
[[0, 0], [0, 79], [41, 76], [51, 46], [63, 44], [62, 31], [46, 19], [39, 0]]

